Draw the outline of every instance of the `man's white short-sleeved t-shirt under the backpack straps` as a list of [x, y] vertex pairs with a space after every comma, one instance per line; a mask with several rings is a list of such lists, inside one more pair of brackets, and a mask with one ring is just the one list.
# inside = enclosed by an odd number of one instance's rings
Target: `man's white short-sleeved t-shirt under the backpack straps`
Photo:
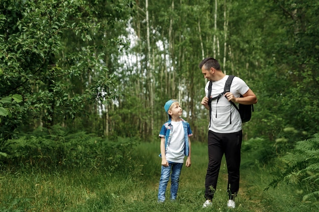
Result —
[[[228, 78], [226, 75], [219, 81], [213, 81], [211, 86], [210, 97], [214, 98], [224, 91], [225, 83]], [[205, 86], [206, 97], [208, 96], [209, 81]], [[230, 85], [230, 93], [234, 97], [240, 97], [248, 92], [249, 87], [239, 77], [234, 77]], [[231, 116], [230, 116], [231, 114]], [[231, 124], [230, 124], [231, 118]], [[242, 130], [242, 119], [236, 108], [228, 102], [227, 98], [222, 96], [217, 103], [217, 100], [211, 101], [211, 119], [209, 130], [216, 133], [234, 133]]]

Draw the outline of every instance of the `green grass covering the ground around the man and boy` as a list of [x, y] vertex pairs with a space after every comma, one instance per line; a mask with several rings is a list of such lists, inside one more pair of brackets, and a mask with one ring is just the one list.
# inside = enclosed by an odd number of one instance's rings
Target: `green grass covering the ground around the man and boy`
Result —
[[[157, 189], [161, 159], [158, 154], [159, 142], [141, 143], [130, 161], [135, 162], [137, 168], [129, 174], [99, 170], [3, 172], [0, 175], [0, 211], [309, 212], [318, 209], [310, 202], [302, 202], [302, 195], [287, 185], [263, 191], [271, 175], [257, 163], [242, 167], [236, 208], [227, 208], [225, 162], [213, 207], [202, 208], [208, 157], [205, 143], [196, 142], [192, 143], [192, 166], [183, 167], [181, 172], [177, 201], [159, 204]], [[169, 188], [170, 185], [167, 196]]]

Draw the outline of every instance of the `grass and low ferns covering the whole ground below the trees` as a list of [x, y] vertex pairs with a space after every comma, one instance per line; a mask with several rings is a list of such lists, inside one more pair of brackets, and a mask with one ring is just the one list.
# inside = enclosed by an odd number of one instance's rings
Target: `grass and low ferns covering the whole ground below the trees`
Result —
[[[192, 142], [192, 166], [182, 168], [177, 201], [159, 204], [159, 140], [139, 142], [59, 128], [38, 129], [0, 147], [0, 211], [317, 211], [317, 169], [313, 164], [318, 161], [318, 135], [297, 142], [280, 163], [267, 156], [272, 151], [263, 149], [271, 148], [267, 142], [255, 139], [243, 143], [236, 208], [227, 208], [225, 159], [213, 206], [202, 208], [206, 143]], [[282, 178], [276, 182], [277, 188], [268, 188], [278, 168], [284, 168]], [[298, 184], [289, 179], [289, 173], [300, 176]], [[169, 189], [170, 184], [168, 196]]]

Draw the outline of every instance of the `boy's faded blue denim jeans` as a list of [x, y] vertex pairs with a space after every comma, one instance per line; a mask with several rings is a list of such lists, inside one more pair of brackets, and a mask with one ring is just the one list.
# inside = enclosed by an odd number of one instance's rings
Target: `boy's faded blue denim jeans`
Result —
[[[178, 191], [178, 182], [179, 182], [179, 175], [181, 168], [183, 167], [183, 163], [174, 163], [168, 161], [168, 167], [162, 166], [161, 171], [161, 179], [159, 179], [159, 186], [158, 186], [158, 202], [165, 201], [165, 192], [166, 187], [171, 175], [171, 200], [175, 200], [177, 197]], [[172, 174], [171, 174], [172, 171]]]

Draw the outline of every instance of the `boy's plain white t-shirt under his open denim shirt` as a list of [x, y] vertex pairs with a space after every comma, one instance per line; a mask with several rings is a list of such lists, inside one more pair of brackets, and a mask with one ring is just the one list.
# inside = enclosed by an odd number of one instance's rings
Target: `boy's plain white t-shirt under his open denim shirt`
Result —
[[172, 137], [170, 145], [167, 148], [166, 160], [175, 163], [184, 163], [184, 128], [181, 121], [171, 122], [173, 126]]

